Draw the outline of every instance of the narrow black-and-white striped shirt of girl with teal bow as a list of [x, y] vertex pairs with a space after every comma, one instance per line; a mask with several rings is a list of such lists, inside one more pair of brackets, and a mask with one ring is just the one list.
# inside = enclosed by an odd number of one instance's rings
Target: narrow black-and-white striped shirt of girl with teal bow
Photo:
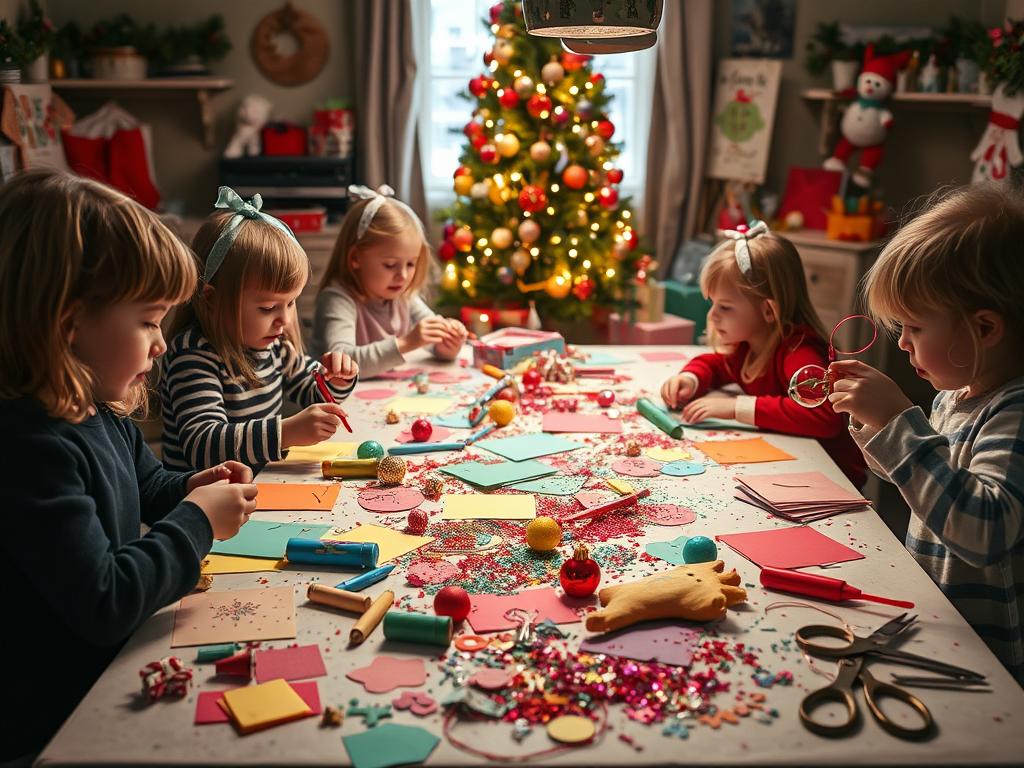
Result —
[[[213, 345], [197, 328], [171, 340], [164, 358], [164, 464], [169, 469], [205, 469], [228, 459], [259, 468], [283, 458], [281, 407], [285, 397], [301, 408], [323, 402], [310, 376], [315, 361], [279, 339], [250, 350], [259, 386], [236, 381]], [[329, 384], [343, 400], [355, 386]]]

